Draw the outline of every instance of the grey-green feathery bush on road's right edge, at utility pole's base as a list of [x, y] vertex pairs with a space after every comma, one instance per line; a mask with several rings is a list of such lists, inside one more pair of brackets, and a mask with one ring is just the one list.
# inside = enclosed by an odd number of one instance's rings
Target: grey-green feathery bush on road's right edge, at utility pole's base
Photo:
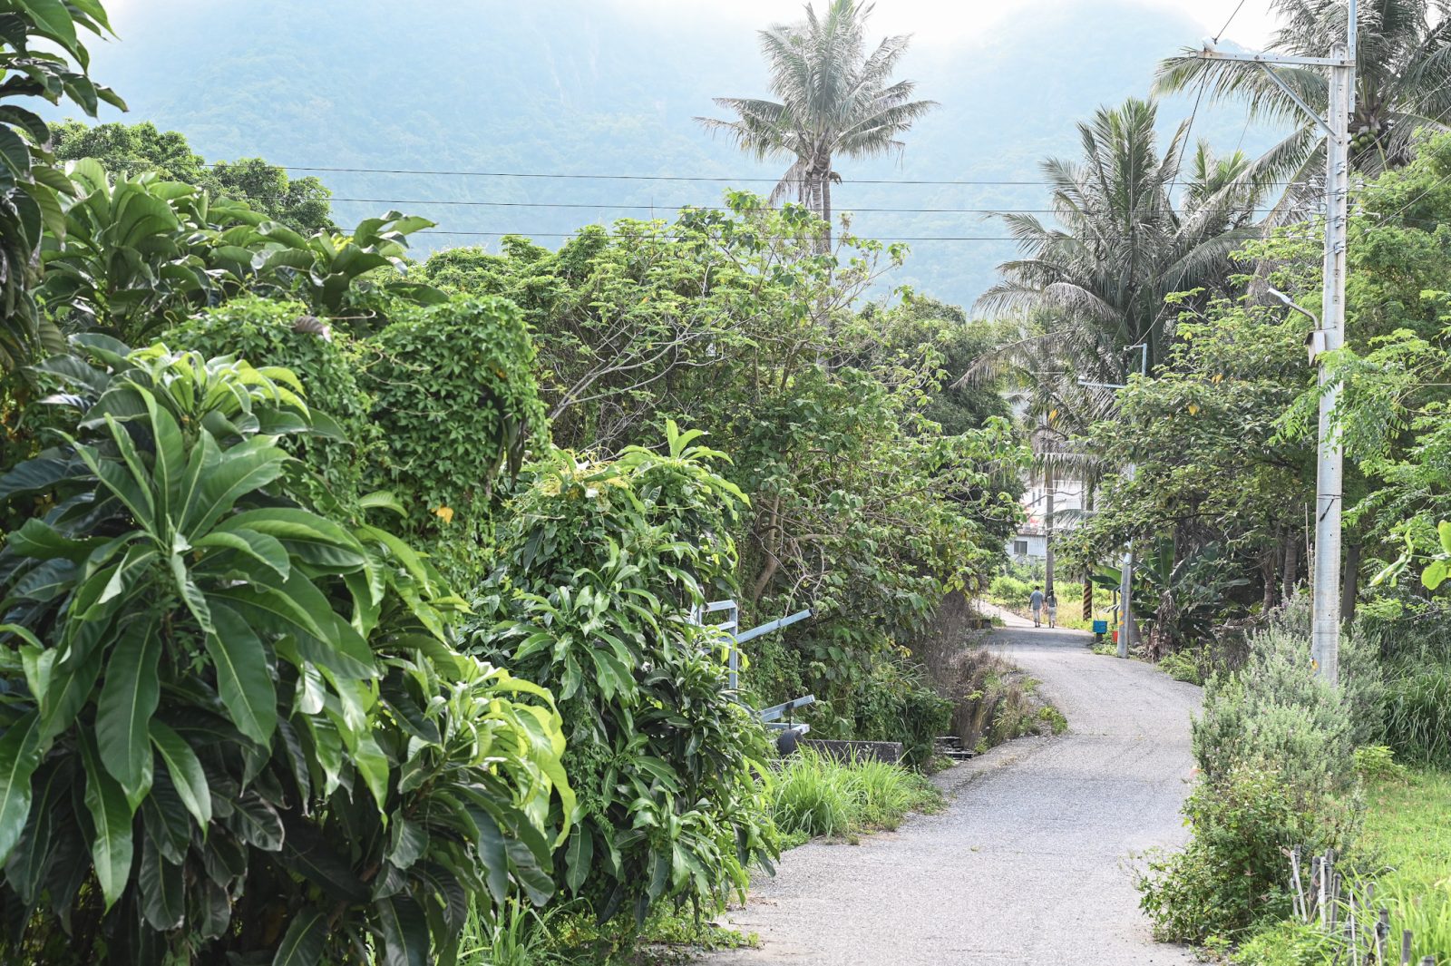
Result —
[[[1233, 937], [1290, 911], [1284, 850], [1344, 851], [1357, 833], [1355, 748], [1378, 705], [1378, 667], [1348, 653], [1335, 688], [1315, 673], [1294, 615], [1254, 635], [1249, 659], [1213, 677], [1194, 721], [1193, 838], [1152, 857], [1140, 905], [1164, 940]], [[1367, 680], [1368, 679], [1368, 680]]]

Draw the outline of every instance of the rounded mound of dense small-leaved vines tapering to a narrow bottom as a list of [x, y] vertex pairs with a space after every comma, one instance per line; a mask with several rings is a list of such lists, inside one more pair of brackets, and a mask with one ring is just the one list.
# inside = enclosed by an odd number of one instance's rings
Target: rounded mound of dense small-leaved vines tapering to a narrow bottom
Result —
[[495, 297], [405, 307], [363, 350], [361, 383], [386, 444], [376, 484], [399, 495], [451, 574], [476, 580], [499, 484], [547, 441], [519, 310]]

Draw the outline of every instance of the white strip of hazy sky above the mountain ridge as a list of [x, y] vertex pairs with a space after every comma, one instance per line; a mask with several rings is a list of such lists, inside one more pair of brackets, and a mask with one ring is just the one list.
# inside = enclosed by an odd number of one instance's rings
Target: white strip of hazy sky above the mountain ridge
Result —
[[[585, 3], [588, 0], [576, 0]], [[804, 0], [609, 0], [625, 9], [638, 9], [649, 16], [679, 16], [734, 19], [752, 26], [781, 20], [797, 20], [805, 6]], [[829, 0], [815, 0], [821, 10]], [[1239, 0], [1139, 0], [1145, 7], [1178, 10], [1196, 20], [1201, 33], [1184, 38], [1197, 44], [1219, 32]], [[913, 33], [914, 44], [937, 46], [950, 44], [972, 44], [991, 39], [995, 25], [1033, 10], [1048, 7], [1093, 9], [1094, 0], [876, 0], [872, 12], [872, 28], [881, 33]], [[1274, 28], [1270, 15], [1270, 0], [1245, 0], [1225, 33], [1226, 39], [1244, 46], [1262, 46]], [[1104, 25], [1104, 38], [1110, 39], [1111, 25]]]

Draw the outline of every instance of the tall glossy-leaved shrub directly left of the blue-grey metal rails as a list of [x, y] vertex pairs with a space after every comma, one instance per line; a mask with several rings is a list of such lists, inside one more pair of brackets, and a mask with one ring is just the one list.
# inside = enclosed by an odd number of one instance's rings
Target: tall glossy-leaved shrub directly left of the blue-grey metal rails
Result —
[[773, 854], [755, 773], [765, 728], [726, 690], [721, 632], [692, 609], [734, 590], [743, 496], [669, 424], [667, 451], [556, 454], [511, 505], [474, 645], [556, 689], [575, 831], [556, 856], [602, 920], [715, 905]]

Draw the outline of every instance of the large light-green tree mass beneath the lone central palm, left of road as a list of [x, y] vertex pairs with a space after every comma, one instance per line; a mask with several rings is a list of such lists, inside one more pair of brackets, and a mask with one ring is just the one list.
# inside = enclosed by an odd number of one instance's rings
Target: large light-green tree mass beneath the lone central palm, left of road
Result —
[[586, 229], [557, 252], [456, 249], [424, 274], [521, 306], [557, 444], [647, 444], [665, 418], [707, 429], [750, 498], [731, 531], [743, 616], [818, 615], [750, 645], [746, 692], [815, 693], [827, 734], [900, 740], [905, 711], [921, 748], [942, 702], [898, 667], [904, 648], [948, 590], [985, 580], [1019, 512], [1003, 403], [948, 386], [948, 360], [987, 334], [926, 299], [856, 312], [900, 249], [843, 238], [821, 254], [805, 209], [727, 200]]

